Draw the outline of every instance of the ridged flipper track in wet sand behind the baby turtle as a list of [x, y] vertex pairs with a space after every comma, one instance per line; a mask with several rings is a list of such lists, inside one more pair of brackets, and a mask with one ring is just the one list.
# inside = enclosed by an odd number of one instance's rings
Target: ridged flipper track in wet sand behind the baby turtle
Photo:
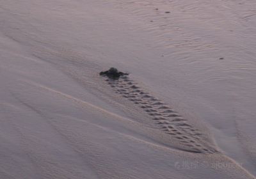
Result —
[[193, 128], [186, 122], [186, 119], [173, 111], [171, 107], [143, 91], [127, 76], [122, 76], [118, 80], [106, 78], [106, 81], [116, 93], [141, 107], [154, 120], [160, 130], [172, 135], [180, 143], [183, 143], [186, 148], [189, 148], [189, 152], [216, 152], [216, 150], [205, 146], [204, 142], [202, 142], [200, 130]]

